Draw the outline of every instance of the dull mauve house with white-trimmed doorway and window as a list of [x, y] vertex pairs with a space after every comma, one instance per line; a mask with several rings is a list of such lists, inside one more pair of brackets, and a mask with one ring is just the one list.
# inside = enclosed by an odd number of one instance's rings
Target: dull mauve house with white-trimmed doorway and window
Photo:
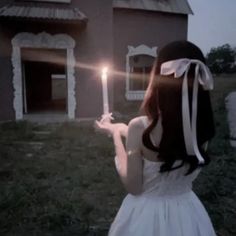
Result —
[[1, 0], [0, 120], [103, 113], [101, 67], [110, 110], [143, 99], [164, 44], [187, 38], [187, 0]]

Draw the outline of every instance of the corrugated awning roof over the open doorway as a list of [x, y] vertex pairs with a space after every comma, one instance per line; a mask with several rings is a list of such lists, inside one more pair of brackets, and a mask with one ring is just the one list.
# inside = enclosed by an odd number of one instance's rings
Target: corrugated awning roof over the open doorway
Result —
[[78, 8], [57, 8], [44, 6], [5, 5], [0, 8], [0, 17], [28, 18], [42, 20], [63, 20], [66, 22], [86, 22], [87, 17]]

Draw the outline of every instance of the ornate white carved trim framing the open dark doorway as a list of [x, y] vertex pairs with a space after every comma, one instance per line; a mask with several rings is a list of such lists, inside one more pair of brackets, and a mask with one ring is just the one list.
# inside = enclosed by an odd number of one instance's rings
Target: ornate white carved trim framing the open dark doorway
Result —
[[13, 88], [14, 98], [13, 107], [16, 120], [23, 119], [23, 97], [22, 97], [22, 65], [21, 48], [51, 48], [66, 49], [67, 51], [67, 106], [68, 118], [75, 118], [76, 99], [75, 99], [75, 57], [74, 39], [67, 34], [50, 35], [46, 32], [39, 34], [22, 32], [12, 39], [12, 66], [13, 66]]

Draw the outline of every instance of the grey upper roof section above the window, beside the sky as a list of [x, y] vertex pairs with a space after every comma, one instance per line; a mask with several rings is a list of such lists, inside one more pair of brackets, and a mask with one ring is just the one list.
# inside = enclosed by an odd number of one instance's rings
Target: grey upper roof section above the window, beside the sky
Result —
[[113, 0], [114, 8], [193, 14], [187, 0]]

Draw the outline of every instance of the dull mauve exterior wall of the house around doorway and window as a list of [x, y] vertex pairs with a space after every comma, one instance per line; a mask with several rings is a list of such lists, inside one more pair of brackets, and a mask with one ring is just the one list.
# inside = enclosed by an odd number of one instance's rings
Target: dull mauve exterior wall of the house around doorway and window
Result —
[[[10, 1], [8, 1], [10, 2]], [[42, 3], [42, 6], [53, 6]], [[109, 75], [109, 102], [125, 101], [125, 56], [127, 46], [164, 44], [187, 38], [187, 15], [114, 9], [112, 1], [72, 1], [87, 17], [85, 27], [38, 20], [0, 21], [0, 120], [14, 120], [11, 39], [20, 32], [65, 33], [76, 42], [76, 118], [96, 118], [102, 114], [100, 69], [109, 64], [122, 75]], [[113, 85], [114, 83], [114, 85]], [[114, 87], [114, 90], [113, 90]], [[114, 92], [113, 92], [114, 91]], [[115, 109], [115, 107], [114, 107]]]

